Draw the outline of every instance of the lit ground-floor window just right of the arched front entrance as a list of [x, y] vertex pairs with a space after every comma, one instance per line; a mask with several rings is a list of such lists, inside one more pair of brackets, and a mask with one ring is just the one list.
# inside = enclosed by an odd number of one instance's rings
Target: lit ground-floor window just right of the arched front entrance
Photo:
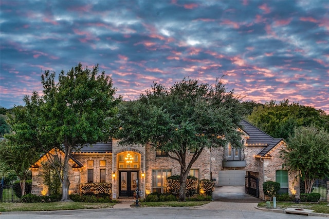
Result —
[[152, 192], [168, 193], [168, 176], [171, 176], [171, 170], [152, 170]]

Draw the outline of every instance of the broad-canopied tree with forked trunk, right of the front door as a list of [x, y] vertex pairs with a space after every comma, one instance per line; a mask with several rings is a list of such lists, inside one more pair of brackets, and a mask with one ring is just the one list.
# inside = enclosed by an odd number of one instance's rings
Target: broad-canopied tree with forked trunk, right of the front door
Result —
[[[186, 199], [186, 181], [192, 164], [206, 147], [242, 147], [237, 130], [241, 115], [239, 96], [226, 91], [221, 81], [199, 84], [184, 78], [172, 87], [154, 83], [137, 101], [119, 110], [120, 144], [150, 144], [168, 153], [180, 165], [179, 200]], [[194, 154], [188, 160], [187, 152]]]

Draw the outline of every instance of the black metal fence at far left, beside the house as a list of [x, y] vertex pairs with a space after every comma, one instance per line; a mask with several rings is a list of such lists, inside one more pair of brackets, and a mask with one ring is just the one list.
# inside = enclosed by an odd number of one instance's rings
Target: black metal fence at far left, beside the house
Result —
[[[31, 184], [26, 184], [26, 193], [31, 192]], [[0, 184], [0, 202], [20, 202], [21, 199], [21, 186], [20, 184], [2, 185]]]

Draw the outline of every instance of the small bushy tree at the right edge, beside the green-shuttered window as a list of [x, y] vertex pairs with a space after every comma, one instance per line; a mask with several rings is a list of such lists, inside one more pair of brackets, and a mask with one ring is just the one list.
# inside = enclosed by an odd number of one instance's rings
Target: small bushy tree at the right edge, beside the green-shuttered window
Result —
[[314, 125], [295, 128], [282, 157], [283, 167], [298, 171], [310, 193], [317, 178], [329, 175], [329, 132]]

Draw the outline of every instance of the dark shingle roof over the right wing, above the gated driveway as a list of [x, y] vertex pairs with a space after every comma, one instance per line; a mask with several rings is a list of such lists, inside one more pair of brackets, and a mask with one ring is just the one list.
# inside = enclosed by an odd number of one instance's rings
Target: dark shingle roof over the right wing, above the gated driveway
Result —
[[247, 145], [264, 147], [264, 149], [258, 153], [259, 156], [265, 156], [282, 141], [282, 138], [273, 138], [245, 120], [241, 121], [241, 125], [243, 131], [249, 135]]

